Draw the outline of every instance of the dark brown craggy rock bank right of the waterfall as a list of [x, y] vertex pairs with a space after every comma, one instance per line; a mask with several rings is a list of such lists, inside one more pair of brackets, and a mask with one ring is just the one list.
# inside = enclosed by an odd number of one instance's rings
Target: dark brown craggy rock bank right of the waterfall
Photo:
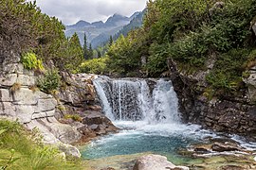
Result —
[[179, 99], [179, 110], [185, 123], [195, 123], [204, 128], [231, 134], [249, 136], [255, 140], [256, 132], [256, 67], [250, 68], [244, 78], [244, 89], [222, 96], [210, 96], [206, 76], [214, 65], [209, 60], [208, 70], [192, 75], [178, 70], [174, 60], [169, 60], [171, 79]]

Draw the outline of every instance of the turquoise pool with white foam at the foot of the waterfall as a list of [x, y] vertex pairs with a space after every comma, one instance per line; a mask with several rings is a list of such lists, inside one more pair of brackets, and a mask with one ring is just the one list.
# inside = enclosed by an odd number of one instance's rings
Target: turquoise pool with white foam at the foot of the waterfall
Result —
[[202, 143], [205, 137], [214, 135], [200, 130], [198, 126], [149, 125], [143, 121], [119, 121], [115, 124], [124, 129], [87, 144], [82, 148], [83, 158], [101, 159], [147, 152], [164, 155], [179, 164], [189, 160], [178, 154], [179, 149]]

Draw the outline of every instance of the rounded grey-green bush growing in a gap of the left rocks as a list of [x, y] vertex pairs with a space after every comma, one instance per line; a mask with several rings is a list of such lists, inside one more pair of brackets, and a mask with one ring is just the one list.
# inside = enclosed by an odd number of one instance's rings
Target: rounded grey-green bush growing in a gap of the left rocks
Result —
[[44, 76], [37, 78], [37, 86], [46, 93], [57, 90], [61, 84], [61, 76], [57, 70], [47, 70]]

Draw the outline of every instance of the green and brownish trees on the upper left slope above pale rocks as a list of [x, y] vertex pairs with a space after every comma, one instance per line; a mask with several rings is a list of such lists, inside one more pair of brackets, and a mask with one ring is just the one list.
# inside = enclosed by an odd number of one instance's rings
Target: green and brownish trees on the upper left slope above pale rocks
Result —
[[74, 71], [83, 59], [77, 35], [66, 39], [64, 25], [57, 18], [42, 13], [35, 2], [25, 2], [0, 2], [1, 60], [10, 53], [30, 52], [45, 63], [52, 60], [61, 70]]

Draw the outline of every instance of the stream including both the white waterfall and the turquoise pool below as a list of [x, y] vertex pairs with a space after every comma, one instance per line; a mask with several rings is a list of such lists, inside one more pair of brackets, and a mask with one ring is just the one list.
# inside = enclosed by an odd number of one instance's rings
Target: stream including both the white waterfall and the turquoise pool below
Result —
[[178, 154], [181, 148], [215, 136], [199, 126], [181, 123], [170, 80], [102, 76], [94, 80], [94, 85], [103, 112], [121, 130], [88, 144], [82, 149], [83, 158], [109, 160], [155, 153], [181, 164], [188, 162], [188, 158]]

